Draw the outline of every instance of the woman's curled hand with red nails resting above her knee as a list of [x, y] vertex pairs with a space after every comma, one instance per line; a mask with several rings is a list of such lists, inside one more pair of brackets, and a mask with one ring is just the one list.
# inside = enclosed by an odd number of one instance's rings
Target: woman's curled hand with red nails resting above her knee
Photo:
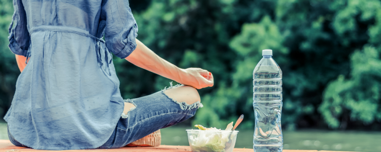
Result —
[[179, 83], [192, 86], [196, 89], [212, 87], [214, 79], [212, 73], [200, 68], [183, 69], [184, 74], [180, 76]]

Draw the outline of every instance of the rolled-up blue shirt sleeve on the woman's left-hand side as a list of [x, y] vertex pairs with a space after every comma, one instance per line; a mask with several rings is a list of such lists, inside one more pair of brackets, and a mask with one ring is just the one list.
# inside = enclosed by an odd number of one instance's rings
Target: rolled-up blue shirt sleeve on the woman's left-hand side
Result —
[[9, 25], [9, 49], [17, 55], [27, 56], [30, 36], [27, 28], [26, 13], [21, 0], [13, 0], [13, 17]]

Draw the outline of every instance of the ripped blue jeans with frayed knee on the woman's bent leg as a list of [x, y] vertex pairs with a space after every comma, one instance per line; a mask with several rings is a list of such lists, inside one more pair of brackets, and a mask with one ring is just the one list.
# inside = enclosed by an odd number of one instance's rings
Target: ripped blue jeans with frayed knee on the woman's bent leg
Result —
[[[177, 85], [179, 86], [179, 85]], [[177, 87], [175, 86], [175, 87]], [[165, 90], [136, 99], [125, 100], [134, 104], [127, 115], [122, 114], [109, 140], [99, 149], [124, 147], [156, 130], [173, 126], [191, 118], [202, 104], [197, 101], [191, 105], [177, 102], [164, 94]]]

